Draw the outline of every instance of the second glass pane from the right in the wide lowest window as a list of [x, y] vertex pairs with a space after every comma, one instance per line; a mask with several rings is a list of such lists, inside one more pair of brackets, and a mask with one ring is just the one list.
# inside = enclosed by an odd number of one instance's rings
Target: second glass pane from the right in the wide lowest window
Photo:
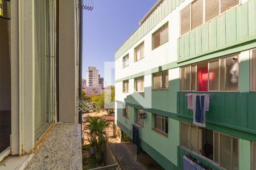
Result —
[[220, 134], [220, 166], [231, 169], [231, 137]]

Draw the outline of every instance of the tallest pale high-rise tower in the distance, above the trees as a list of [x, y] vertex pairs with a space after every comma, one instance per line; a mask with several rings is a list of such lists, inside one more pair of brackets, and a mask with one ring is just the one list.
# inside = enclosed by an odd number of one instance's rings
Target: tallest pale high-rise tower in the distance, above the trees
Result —
[[98, 87], [98, 70], [96, 67], [88, 67], [87, 70], [87, 79], [86, 79], [87, 87]]

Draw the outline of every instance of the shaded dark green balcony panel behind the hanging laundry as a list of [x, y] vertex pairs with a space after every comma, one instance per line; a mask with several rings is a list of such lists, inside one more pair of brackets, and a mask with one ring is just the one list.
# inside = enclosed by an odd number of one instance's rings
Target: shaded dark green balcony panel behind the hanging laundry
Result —
[[[199, 92], [177, 92], [177, 114], [193, 119], [193, 111], [187, 109], [185, 94]], [[209, 112], [206, 122], [226, 126], [248, 133], [256, 133], [256, 93], [253, 92], [203, 92], [210, 94]]]

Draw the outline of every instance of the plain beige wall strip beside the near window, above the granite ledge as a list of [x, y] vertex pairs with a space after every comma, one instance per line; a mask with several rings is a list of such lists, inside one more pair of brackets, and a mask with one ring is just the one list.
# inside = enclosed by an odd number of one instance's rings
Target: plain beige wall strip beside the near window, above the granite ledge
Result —
[[77, 1], [59, 1], [59, 112], [60, 122], [77, 124], [79, 21], [76, 5]]

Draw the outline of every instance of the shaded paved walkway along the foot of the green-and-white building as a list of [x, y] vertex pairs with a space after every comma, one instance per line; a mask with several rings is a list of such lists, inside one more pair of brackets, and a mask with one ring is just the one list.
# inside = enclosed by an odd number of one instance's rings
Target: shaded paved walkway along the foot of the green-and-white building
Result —
[[[115, 158], [123, 169], [127, 170], [162, 170], [163, 168], [147, 154], [135, 156], [135, 145], [130, 142], [119, 143], [117, 139], [110, 139], [109, 146], [114, 152]], [[136, 161], [138, 160], [138, 162]]]

